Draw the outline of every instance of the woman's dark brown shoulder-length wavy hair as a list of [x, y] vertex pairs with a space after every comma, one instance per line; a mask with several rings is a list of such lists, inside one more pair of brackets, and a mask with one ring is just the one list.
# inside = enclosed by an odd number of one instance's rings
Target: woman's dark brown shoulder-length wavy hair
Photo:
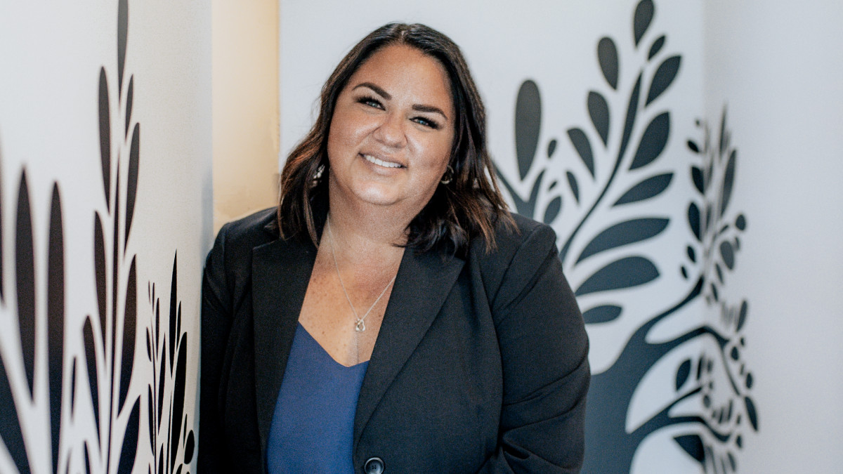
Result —
[[424, 24], [384, 24], [357, 43], [331, 73], [322, 87], [319, 117], [287, 157], [281, 173], [277, 223], [282, 236], [307, 234], [318, 245], [313, 205], [328, 201], [328, 133], [337, 97], [363, 62], [391, 45], [414, 47], [443, 65], [456, 111], [448, 161], [453, 179], [438, 185], [431, 200], [412, 219], [406, 246], [462, 254], [469, 241], [481, 235], [486, 250], [494, 249], [495, 226], [514, 228], [514, 222], [498, 190], [486, 145], [486, 110], [459, 46]]

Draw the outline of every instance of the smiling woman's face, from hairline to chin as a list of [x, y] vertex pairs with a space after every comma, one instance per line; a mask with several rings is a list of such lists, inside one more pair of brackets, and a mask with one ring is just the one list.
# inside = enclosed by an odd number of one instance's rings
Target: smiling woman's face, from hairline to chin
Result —
[[442, 180], [453, 140], [443, 66], [411, 46], [386, 46], [336, 100], [328, 135], [331, 200], [399, 206], [415, 216]]

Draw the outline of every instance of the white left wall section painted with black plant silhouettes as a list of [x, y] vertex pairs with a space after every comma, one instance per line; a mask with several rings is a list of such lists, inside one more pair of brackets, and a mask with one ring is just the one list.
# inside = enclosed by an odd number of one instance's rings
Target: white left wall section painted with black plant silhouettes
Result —
[[145, 7], [0, 7], [3, 473], [191, 471], [210, 15]]

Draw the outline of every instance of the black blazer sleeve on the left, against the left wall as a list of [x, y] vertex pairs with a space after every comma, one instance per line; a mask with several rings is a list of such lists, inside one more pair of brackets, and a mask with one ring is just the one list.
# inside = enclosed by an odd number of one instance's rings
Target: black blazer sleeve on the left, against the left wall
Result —
[[199, 396], [199, 445], [197, 471], [225, 471], [223, 418], [219, 387], [228, 333], [231, 330], [232, 295], [225, 271], [228, 224], [220, 229], [205, 262], [202, 277], [201, 354]]

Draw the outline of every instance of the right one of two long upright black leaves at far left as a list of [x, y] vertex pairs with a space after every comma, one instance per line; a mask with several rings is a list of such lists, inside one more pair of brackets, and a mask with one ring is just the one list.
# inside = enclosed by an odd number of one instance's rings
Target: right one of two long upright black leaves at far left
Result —
[[47, 250], [47, 340], [50, 377], [50, 429], [52, 462], [58, 471], [58, 443], [62, 423], [62, 374], [64, 368], [64, 234], [62, 199], [54, 183], [50, 205]]

